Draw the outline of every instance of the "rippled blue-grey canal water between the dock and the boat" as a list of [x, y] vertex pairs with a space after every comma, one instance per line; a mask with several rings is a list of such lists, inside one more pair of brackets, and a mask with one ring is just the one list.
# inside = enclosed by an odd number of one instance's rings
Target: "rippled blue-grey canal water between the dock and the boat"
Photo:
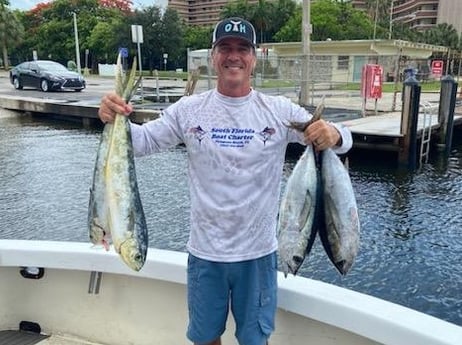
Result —
[[[0, 117], [0, 238], [88, 242], [89, 187], [100, 129]], [[455, 135], [455, 139], [460, 135]], [[295, 161], [288, 159], [287, 178]], [[182, 148], [136, 160], [150, 246], [184, 251], [189, 198]], [[361, 248], [346, 277], [319, 240], [300, 274], [462, 326], [462, 141], [414, 172], [354, 155]]]

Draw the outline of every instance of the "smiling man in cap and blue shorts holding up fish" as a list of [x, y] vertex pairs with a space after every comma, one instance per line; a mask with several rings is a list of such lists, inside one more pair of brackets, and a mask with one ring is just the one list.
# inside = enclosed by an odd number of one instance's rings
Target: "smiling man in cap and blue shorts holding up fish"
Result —
[[[267, 344], [276, 312], [276, 223], [287, 144], [314, 143], [338, 153], [352, 145], [346, 128], [324, 120], [304, 133], [287, 127], [311, 115], [287, 98], [252, 89], [255, 46], [248, 21], [219, 22], [211, 53], [216, 88], [183, 97], [159, 119], [131, 125], [138, 156], [179, 143], [188, 151], [187, 336], [195, 344], [221, 344], [229, 307], [239, 344]], [[112, 93], [99, 116], [111, 122], [131, 111]]]

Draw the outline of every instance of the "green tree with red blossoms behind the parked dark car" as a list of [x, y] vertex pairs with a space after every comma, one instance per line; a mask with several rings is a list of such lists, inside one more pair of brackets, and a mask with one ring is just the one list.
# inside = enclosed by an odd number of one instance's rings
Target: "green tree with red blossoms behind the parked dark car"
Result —
[[22, 12], [21, 22], [27, 28], [26, 39], [15, 49], [15, 56], [21, 61], [30, 60], [35, 50], [39, 58], [51, 58], [63, 64], [76, 59], [75, 13], [80, 61], [85, 61], [87, 49], [93, 69], [100, 59], [115, 61], [118, 47], [126, 46], [130, 38], [128, 19], [132, 14], [127, 11], [129, 3], [128, 0], [40, 3], [32, 10]]

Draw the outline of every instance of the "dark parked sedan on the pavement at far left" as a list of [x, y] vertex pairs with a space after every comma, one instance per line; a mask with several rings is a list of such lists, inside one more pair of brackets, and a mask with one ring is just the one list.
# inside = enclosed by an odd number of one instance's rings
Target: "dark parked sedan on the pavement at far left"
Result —
[[34, 87], [43, 92], [52, 90], [82, 91], [85, 79], [55, 61], [37, 60], [22, 62], [10, 70], [10, 82], [14, 88]]

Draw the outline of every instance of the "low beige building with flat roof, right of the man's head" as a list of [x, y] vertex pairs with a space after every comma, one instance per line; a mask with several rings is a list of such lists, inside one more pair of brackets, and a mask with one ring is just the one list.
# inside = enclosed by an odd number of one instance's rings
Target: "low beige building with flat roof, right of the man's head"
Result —
[[[279, 70], [286, 76], [297, 71], [297, 61], [302, 54], [301, 42], [263, 43], [260, 47], [271, 50], [277, 56]], [[312, 41], [310, 73], [317, 81], [358, 82], [365, 64], [379, 64], [383, 66], [386, 80], [388, 77], [394, 78], [397, 64], [399, 74], [404, 67], [428, 66], [432, 54], [445, 54], [447, 51], [442, 46], [402, 40]], [[405, 63], [403, 57], [406, 57]]]

